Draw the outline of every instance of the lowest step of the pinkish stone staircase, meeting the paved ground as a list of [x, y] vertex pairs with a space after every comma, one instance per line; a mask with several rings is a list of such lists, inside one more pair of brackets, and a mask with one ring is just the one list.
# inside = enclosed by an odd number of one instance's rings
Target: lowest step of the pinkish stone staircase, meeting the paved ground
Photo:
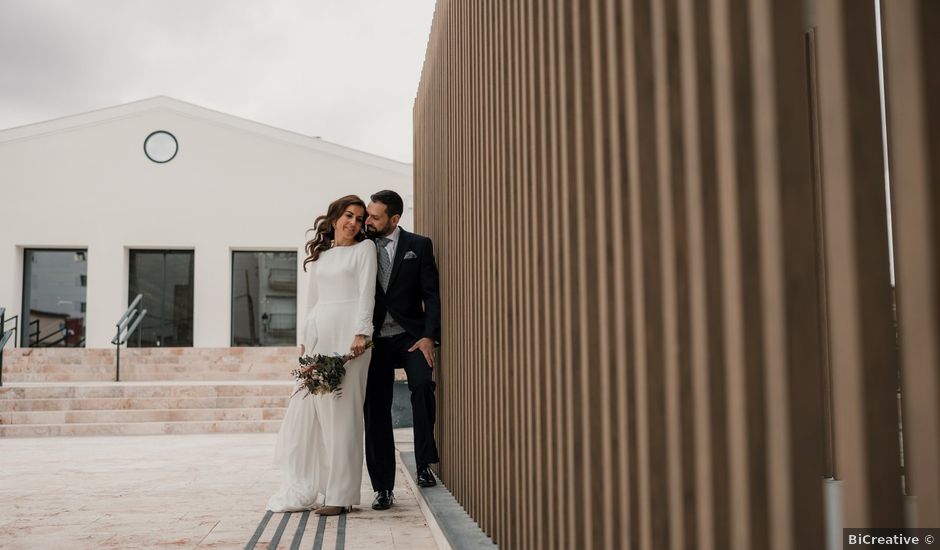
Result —
[[0, 425], [0, 437], [276, 433], [280, 420]]

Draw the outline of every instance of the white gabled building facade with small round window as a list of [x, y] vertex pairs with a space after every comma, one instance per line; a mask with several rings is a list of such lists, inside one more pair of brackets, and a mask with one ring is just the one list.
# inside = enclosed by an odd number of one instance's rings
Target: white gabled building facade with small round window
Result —
[[[167, 164], [144, 155], [154, 130], [179, 141]], [[168, 98], [0, 132], [0, 306], [20, 314], [23, 249], [87, 248], [86, 345], [107, 347], [128, 251], [191, 249], [194, 344], [226, 347], [232, 250], [296, 250], [299, 264], [330, 201], [386, 188], [405, 198], [410, 228], [410, 165]]]

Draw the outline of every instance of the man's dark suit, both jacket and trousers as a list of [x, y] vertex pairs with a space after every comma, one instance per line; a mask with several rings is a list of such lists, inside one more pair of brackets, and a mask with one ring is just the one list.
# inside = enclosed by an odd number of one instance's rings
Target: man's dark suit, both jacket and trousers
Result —
[[[378, 254], [388, 252], [377, 246]], [[381, 273], [375, 286], [372, 362], [365, 399], [366, 464], [372, 488], [391, 490], [395, 485], [395, 440], [392, 432], [392, 390], [395, 369], [405, 369], [414, 416], [415, 460], [419, 464], [440, 461], [434, 442], [435, 383], [432, 369], [421, 350], [409, 352], [421, 338], [441, 339], [441, 298], [431, 239], [399, 229], [395, 257], [391, 260], [388, 286]], [[398, 334], [383, 336], [382, 327], [397, 325]]]

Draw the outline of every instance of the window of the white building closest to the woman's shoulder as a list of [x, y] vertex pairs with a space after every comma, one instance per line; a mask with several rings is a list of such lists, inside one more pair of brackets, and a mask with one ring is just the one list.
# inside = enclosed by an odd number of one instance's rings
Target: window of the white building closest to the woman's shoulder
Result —
[[297, 253], [232, 253], [232, 345], [297, 341]]

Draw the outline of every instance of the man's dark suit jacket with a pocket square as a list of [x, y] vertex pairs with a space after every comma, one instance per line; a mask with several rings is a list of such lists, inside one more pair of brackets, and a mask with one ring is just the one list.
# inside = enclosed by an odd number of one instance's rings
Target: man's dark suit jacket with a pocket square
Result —
[[382, 290], [381, 283], [375, 285], [375, 313], [372, 316], [375, 334], [379, 334], [387, 312], [415, 339], [428, 337], [439, 343], [441, 296], [438, 279], [431, 239], [402, 229], [392, 260], [388, 289]]

